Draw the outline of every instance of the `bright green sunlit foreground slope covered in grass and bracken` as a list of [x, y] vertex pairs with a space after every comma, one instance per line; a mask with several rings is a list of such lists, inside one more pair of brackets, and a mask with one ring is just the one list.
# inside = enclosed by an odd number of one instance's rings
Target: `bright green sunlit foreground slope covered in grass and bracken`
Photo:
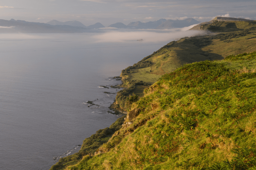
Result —
[[135, 119], [66, 169], [253, 169], [256, 52], [186, 64], [133, 103]]

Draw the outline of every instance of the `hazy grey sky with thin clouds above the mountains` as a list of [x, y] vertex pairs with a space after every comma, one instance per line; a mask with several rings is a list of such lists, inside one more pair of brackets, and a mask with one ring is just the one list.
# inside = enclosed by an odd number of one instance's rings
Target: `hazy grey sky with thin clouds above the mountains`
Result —
[[256, 20], [255, 0], [1, 0], [0, 19], [46, 23], [77, 20], [89, 26], [161, 18], [210, 21], [215, 16]]

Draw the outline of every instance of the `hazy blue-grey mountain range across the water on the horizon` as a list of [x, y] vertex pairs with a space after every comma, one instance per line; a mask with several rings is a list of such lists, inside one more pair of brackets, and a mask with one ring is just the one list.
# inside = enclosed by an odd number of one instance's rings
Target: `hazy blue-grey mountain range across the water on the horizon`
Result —
[[[199, 21], [193, 18], [185, 20], [166, 20], [160, 19], [142, 23], [140, 21], [131, 22], [128, 25], [123, 23], [111, 24], [108, 27], [129, 28], [129, 29], [169, 29], [182, 28], [194, 24], [199, 24]], [[105, 28], [101, 23], [85, 26], [79, 21], [60, 22], [57, 20], [49, 21], [48, 23], [27, 22], [22, 20], [0, 20], [0, 33], [85, 33], [85, 32], [100, 32], [99, 28]]]

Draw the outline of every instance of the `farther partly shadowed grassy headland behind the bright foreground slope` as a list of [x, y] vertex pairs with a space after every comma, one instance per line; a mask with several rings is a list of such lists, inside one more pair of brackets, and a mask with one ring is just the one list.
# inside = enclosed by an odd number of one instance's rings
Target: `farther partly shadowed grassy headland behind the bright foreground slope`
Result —
[[201, 30], [211, 31], [211, 34], [170, 42], [122, 70], [123, 86], [127, 89], [118, 92], [113, 107], [126, 109], [125, 100], [129, 95], [134, 93], [139, 97], [143, 96], [144, 88], [156, 82], [161, 75], [172, 72], [183, 64], [220, 60], [228, 55], [256, 51], [254, 21], [213, 21], [202, 25]]

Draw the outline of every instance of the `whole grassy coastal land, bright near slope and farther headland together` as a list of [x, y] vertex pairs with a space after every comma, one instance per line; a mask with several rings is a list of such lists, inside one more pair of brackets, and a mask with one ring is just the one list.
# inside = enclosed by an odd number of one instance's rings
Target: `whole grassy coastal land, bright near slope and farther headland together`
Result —
[[112, 107], [127, 117], [51, 170], [256, 165], [256, 22], [233, 23], [238, 30], [170, 42], [124, 69]]

